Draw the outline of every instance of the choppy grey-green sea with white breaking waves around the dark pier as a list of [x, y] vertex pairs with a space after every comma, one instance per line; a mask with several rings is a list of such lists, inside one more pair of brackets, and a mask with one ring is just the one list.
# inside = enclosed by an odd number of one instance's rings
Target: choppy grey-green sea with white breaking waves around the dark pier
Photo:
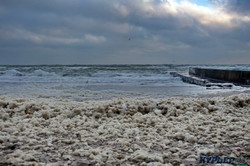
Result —
[[250, 71], [250, 65], [1, 65], [0, 96], [85, 100], [165, 98], [242, 92], [246, 87], [206, 89], [171, 72], [189, 67]]

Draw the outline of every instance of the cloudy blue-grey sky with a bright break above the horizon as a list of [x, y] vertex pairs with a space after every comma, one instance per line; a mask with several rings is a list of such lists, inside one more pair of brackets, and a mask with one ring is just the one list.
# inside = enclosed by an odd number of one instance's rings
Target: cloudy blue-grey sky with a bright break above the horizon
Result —
[[1, 0], [7, 64], [250, 64], [250, 0]]

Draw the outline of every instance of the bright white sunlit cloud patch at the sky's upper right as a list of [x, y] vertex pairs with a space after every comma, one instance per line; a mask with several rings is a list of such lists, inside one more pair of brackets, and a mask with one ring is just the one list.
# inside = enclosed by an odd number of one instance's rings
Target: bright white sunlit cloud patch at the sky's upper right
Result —
[[[137, 6], [138, 7], [138, 6]], [[238, 22], [250, 22], [249, 16], [241, 16], [239, 14], [229, 13], [222, 8], [200, 6], [191, 3], [188, 0], [176, 1], [168, 0], [154, 3], [152, 0], [144, 0], [141, 7], [138, 7], [141, 15], [144, 17], [175, 17], [179, 22], [196, 19], [205, 26], [225, 26], [228, 28], [236, 27], [235, 20]]]

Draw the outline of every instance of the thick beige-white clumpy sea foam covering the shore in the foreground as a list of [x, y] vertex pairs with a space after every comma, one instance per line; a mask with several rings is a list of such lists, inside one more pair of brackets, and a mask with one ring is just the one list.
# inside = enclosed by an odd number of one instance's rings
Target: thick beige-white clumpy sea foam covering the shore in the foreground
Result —
[[250, 94], [96, 102], [0, 97], [1, 164], [199, 165], [200, 155], [247, 163], [249, 131]]

